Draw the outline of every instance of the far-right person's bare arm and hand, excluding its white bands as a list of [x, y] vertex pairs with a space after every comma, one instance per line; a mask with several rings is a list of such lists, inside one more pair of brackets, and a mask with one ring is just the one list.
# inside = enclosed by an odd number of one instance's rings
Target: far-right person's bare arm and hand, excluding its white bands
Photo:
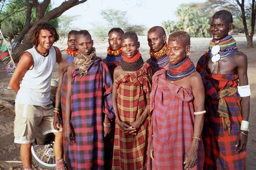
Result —
[[[237, 62], [237, 72], [239, 79], [239, 86], [248, 85], [248, 77], [247, 77], [247, 56], [243, 53], [236, 57]], [[242, 97], [241, 100], [241, 108], [242, 108], [242, 118], [245, 121], [249, 119], [250, 112], [250, 96]], [[241, 130], [244, 134], [248, 135], [247, 131]], [[238, 134], [238, 139], [236, 143], [236, 147], [239, 147], [237, 152], [242, 152], [247, 143], [247, 136], [243, 133]]]

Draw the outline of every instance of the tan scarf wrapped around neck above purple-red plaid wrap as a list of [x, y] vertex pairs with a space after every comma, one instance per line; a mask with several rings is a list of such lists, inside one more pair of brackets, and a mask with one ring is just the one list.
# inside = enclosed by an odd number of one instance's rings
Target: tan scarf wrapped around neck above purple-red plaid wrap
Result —
[[79, 68], [80, 71], [80, 78], [83, 75], [88, 74], [88, 70], [90, 69], [91, 65], [93, 65], [94, 60], [96, 59], [96, 50], [95, 47], [90, 55], [84, 55], [81, 52], [77, 54], [74, 58], [74, 64]]

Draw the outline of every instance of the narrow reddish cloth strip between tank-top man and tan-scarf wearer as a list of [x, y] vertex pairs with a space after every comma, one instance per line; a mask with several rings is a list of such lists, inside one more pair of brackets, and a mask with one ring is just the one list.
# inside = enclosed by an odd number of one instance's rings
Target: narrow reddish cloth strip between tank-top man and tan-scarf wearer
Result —
[[[60, 98], [60, 104], [61, 104], [61, 114], [62, 114], [62, 128], [63, 132], [65, 131], [65, 113], [66, 113], [66, 97], [67, 97], [67, 85], [68, 85], [68, 76], [67, 76], [67, 70], [68, 66], [63, 68], [63, 79], [62, 79], [62, 86], [61, 86], [61, 98]], [[64, 149], [64, 157], [66, 162], [70, 162], [69, 154], [68, 154], [68, 142], [63, 138], [63, 149]], [[70, 164], [68, 164], [70, 165]], [[69, 167], [70, 168], [70, 167]]]

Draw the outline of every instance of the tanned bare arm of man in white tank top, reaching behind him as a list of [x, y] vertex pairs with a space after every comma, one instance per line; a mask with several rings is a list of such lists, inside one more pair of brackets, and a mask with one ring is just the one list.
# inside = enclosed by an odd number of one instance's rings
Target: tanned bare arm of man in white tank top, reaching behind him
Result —
[[32, 56], [25, 52], [19, 59], [18, 65], [9, 82], [9, 86], [17, 93], [19, 90], [19, 83], [24, 77], [26, 71], [33, 65]]

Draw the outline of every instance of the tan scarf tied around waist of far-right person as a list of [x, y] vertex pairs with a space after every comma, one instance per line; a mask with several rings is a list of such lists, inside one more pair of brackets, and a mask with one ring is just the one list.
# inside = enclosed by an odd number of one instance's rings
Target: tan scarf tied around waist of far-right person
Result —
[[229, 87], [218, 92], [219, 104], [217, 113], [222, 118], [224, 130], [228, 129], [230, 134], [231, 122], [229, 120], [228, 106], [224, 97], [232, 96], [237, 92], [237, 87]]

